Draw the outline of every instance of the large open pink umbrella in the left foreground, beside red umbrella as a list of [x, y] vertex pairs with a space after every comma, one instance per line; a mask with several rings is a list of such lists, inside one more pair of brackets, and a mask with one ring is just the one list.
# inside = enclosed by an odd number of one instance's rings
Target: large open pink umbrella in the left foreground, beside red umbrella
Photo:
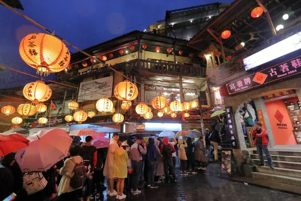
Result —
[[68, 155], [72, 143], [62, 129], [42, 129], [27, 139], [29, 146], [20, 149], [15, 157], [22, 172], [47, 171]]

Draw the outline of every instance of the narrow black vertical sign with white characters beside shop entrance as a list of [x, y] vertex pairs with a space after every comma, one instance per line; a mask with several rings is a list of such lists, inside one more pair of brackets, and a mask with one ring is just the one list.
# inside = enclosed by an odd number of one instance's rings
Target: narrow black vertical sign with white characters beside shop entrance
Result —
[[237, 133], [235, 128], [234, 116], [231, 107], [226, 107], [227, 130], [231, 136], [231, 144], [233, 149], [238, 149]]

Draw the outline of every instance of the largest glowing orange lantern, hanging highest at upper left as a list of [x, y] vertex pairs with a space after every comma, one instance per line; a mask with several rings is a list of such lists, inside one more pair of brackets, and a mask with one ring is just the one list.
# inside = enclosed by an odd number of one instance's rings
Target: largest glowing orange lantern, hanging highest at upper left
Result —
[[25, 36], [19, 46], [21, 58], [37, 69], [37, 73], [64, 70], [70, 62], [70, 52], [66, 45], [54, 36], [42, 33]]

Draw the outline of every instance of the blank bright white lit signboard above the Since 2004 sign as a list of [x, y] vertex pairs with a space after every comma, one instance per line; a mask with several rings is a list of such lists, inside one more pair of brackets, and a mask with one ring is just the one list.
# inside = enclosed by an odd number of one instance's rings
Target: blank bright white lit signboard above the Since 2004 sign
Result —
[[301, 49], [301, 32], [244, 58], [245, 70], [250, 70], [298, 49]]

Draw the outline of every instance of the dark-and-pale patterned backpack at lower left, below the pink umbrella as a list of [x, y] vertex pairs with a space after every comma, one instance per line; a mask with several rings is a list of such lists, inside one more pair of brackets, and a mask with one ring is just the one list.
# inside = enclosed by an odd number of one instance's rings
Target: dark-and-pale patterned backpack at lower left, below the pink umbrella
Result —
[[42, 172], [26, 173], [23, 176], [23, 187], [28, 195], [43, 190], [47, 183], [48, 181], [45, 179]]

